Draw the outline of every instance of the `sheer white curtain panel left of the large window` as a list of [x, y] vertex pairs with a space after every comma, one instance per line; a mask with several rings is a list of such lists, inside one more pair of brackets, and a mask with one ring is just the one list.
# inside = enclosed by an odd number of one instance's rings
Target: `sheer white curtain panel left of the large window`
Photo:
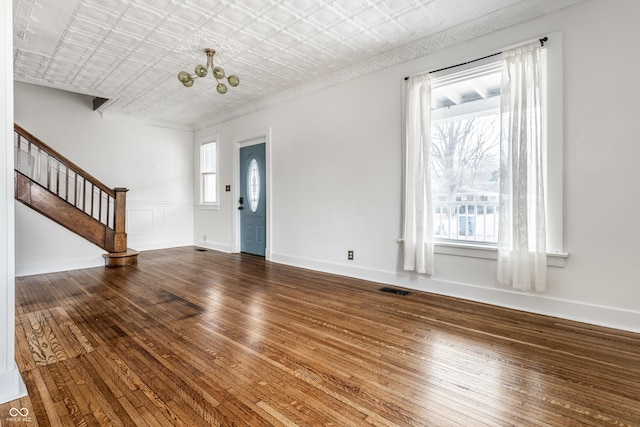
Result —
[[431, 197], [431, 81], [428, 74], [407, 82], [405, 123], [404, 269], [433, 274]]

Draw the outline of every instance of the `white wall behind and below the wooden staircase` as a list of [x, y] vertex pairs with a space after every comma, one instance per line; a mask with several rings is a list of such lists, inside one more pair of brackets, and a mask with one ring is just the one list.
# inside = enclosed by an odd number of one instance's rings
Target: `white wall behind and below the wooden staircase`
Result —
[[[193, 243], [193, 132], [102, 119], [84, 95], [15, 83], [15, 122], [108, 187], [126, 187], [128, 246]], [[104, 265], [101, 249], [16, 202], [16, 275]]]

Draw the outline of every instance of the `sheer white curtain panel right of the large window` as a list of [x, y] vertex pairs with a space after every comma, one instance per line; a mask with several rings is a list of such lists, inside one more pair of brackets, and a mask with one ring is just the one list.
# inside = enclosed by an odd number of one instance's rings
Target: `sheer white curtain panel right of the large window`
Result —
[[543, 75], [540, 43], [502, 56], [498, 282], [547, 284]]

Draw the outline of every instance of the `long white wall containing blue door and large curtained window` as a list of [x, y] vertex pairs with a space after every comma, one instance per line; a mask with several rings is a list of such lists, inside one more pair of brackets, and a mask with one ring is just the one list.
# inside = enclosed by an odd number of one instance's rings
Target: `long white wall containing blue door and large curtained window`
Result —
[[[234, 139], [271, 129], [273, 261], [640, 332], [634, 168], [640, 3], [594, 0], [200, 131], [220, 135], [220, 184], [234, 182]], [[495, 261], [439, 254], [433, 277], [401, 269], [401, 85], [437, 69], [562, 31], [564, 267], [549, 289], [499, 286]], [[550, 40], [549, 43], [553, 43]], [[199, 135], [196, 135], [198, 139]], [[234, 191], [195, 211], [195, 241], [234, 247]], [[597, 197], [597, 198], [596, 198]], [[201, 236], [207, 235], [207, 241]], [[347, 261], [347, 250], [355, 260]]]

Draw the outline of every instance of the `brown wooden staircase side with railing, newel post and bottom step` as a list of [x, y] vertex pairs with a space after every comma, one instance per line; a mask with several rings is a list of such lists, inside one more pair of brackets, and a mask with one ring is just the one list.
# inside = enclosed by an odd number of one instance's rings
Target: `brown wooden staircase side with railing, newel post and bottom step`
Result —
[[105, 265], [135, 265], [138, 252], [127, 248], [126, 188], [108, 188], [14, 125], [15, 198], [102, 248]]

